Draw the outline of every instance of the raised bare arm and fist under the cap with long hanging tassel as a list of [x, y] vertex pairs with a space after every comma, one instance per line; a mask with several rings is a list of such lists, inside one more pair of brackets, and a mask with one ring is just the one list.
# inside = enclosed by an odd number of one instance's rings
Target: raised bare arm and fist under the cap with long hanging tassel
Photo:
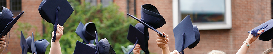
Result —
[[[64, 27], [60, 26], [58, 24], [57, 33], [56, 33], [56, 40], [55, 40], [55, 42], [51, 41], [51, 47], [50, 47], [49, 54], [61, 54], [61, 46], [60, 46], [59, 40], [61, 39], [61, 36], [63, 35], [63, 29], [64, 29]], [[51, 40], [53, 39], [53, 34], [54, 34], [54, 31], [52, 32]]]

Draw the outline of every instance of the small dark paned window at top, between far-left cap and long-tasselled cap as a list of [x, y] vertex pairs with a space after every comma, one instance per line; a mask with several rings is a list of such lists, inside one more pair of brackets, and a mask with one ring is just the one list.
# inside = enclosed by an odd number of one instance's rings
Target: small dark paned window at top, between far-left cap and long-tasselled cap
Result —
[[21, 11], [21, 0], [10, 0], [10, 7], [12, 11]]

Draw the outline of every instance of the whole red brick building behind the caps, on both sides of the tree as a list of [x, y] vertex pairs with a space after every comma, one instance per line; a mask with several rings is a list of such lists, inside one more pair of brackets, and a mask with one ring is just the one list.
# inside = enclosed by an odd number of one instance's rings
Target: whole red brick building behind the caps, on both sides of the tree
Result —
[[[11, 6], [11, 1], [17, 0], [0, 0], [2, 5], [3, 1], [6, 2], [7, 8], [14, 7]], [[38, 12], [38, 6], [42, 0], [18, 0], [21, 2], [21, 10], [13, 11], [14, 15], [17, 16], [18, 12], [25, 11], [21, 18], [17, 21], [22, 23], [30, 23], [35, 25], [36, 28], [30, 29], [28, 33], [31, 34], [32, 31], [38, 31], [39, 34], [43, 33], [43, 26], [41, 21], [43, 20]], [[84, 0], [81, 0], [84, 1]], [[95, 0], [97, 3], [101, 3], [101, 0]], [[111, 1], [111, 0], [107, 0]], [[165, 32], [169, 36], [169, 47], [172, 52], [175, 50], [175, 41], [173, 36], [173, 27], [178, 24], [182, 16], [177, 14], [178, 0], [112, 0], [114, 3], [119, 5], [119, 11], [124, 13], [130, 13], [137, 15], [140, 18], [140, 6], [143, 4], [152, 4], [157, 7], [160, 14], [165, 18], [166, 24], [158, 28], [158, 31]], [[14, 4], [14, 3], [13, 3]], [[185, 54], [206, 54], [211, 50], [222, 50], [227, 54], [235, 54], [243, 41], [246, 40], [249, 33], [247, 31], [255, 28], [256, 26], [272, 19], [272, 1], [271, 0], [225, 0], [225, 6], [230, 6], [229, 14], [231, 14], [229, 19], [231, 19], [231, 28], [222, 29], [202, 29], [201, 26], [197, 27], [200, 29], [200, 42], [193, 48], [186, 48], [184, 50]], [[128, 6], [129, 5], [129, 6]], [[225, 9], [228, 13], [228, 9]], [[179, 12], [178, 12], [179, 13]], [[190, 14], [191, 15], [191, 14]], [[124, 16], [127, 16], [124, 14]], [[178, 20], [174, 19], [179, 17]], [[192, 17], [192, 16], [191, 16]], [[179, 21], [180, 20], [180, 21]], [[10, 43], [7, 48], [7, 52], [12, 54], [20, 54], [22, 52], [20, 48], [20, 38], [15, 34], [15, 30], [19, 26], [16, 24], [10, 30]], [[20, 31], [16, 31], [19, 33]], [[149, 50], [150, 53], [161, 54], [160, 48], [156, 45], [156, 32], [149, 29], [150, 39], [149, 39]], [[7, 37], [8, 38], [8, 37]], [[8, 39], [7, 39], [8, 42]], [[272, 41], [261, 41], [256, 40], [250, 46], [247, 54], [261, 54], [267, 48], [272, 48]], [[7, 52], [3, 52], [6, 54]]]

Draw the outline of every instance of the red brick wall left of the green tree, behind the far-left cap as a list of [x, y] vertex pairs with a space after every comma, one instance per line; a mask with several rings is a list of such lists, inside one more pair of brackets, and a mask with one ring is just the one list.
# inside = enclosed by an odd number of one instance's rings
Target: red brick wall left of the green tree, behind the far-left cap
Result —
[[[4, 49], [4, 51], [2, 52], [3, 54], [6, 54], [8, 52], [11, 52], [12, 54], [21, 54], [22, 53], [22, 49], [20, 46], [20, 37], [18, 37], [18, 35], [20, 35], [20, 31], [15, 31], [17, 28], [19, 28], [19, 26], [17, 25], [18, 22], [30, 23], [31, 25], [37, 27], [37, 29], [31, 28], [28, 32], [23, 32], [24, 34], [28, 33], [27, 37], [31, 36], [32, 32], [35, 32], [35, 31], [39, 32], [39, 34], [42, 34], [43, 27], [42, 27], [41, 21], [43, 19], [38, 12], [38, 7], [41, 2], [42, 2], [42, 0], [22, 0], [22, 11], [25, 11], [25, 12], [20, 17], [20, 19], [18, 19], [16, 24], [10, 30], [10, 41], [9, 41], [9, 45], [7, 48], [7, 52], [5, 52], [6, 49]], [[7, 0], [7, 8], [10, 9], [10, 0]], [[15, 18], [17, 15], [18, 14], [14, 14], [13, 18]], [[16, 34], [15, 32], [17, 32], [18, 34]], [[9, 40], [8, 34], [6, 35], [6, 38], [7, 38], [6, 44], [8, 44], [8, 40]], [[37, 40], [37, 39], [35, 39], [35, 40]]]

